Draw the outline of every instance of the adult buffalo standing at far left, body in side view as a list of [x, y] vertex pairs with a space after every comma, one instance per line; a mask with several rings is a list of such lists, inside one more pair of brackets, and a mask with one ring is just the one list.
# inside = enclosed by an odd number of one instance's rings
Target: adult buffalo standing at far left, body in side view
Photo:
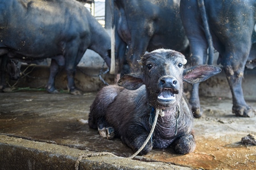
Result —
[[0, 56], [23, 62], [52, 58], [48, 92], [57, 92], [59, 66], [67, 71], [68, 88], [75, 87], [76, 65], [92, 49], [110, 66], [111, 39], [90, 12], [75, 0], [0, 1]]

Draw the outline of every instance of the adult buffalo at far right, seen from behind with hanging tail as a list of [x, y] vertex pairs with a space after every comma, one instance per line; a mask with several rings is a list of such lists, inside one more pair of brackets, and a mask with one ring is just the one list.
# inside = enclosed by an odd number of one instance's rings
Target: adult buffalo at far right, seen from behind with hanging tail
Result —
[[[192, 61], [195, 65], [204, 63], [207, 60], [208, 44], [213, 44], [220, 53], [217, 63], [224, 67], [232, 91], [232, 112], [243, 117], [254, 116], [253, 109], [243, 98], [241, 84], [246, 61], [249, 59], [247, 66], [255, 67], [255, 50], [251, 48], [256, 42], [255, 7], [255, 0], [180, 1], [181, 19], [189, 40]], [[212, 49], [209, 46], [210, 53]], [[189, 103], [194, 116], [200, 117], [199, 84], [193, 85]]]

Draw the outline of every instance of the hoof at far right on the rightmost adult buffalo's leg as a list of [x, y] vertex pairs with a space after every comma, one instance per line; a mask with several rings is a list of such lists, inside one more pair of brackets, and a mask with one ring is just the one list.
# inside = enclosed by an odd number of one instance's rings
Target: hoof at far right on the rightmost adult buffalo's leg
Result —
[[232, 113], [239, 117], [254, 117], [255, 111], [250, 106], [235, 107], [232, 108]]

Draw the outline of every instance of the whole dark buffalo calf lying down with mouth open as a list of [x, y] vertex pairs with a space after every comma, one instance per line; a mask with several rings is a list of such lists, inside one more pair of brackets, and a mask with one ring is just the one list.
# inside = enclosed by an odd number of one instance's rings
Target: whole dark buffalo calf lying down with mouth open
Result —
[[[198, 83], [219, 73], [218, 67], [199, 65], [184, 69], [187, 60], [174, 50], [158, 49], [139, 61], [142, 72], [124, 75], [118, 85], [98, 92], [90, 107], [89, 126], [102, 137], [121, 137], [137, 151], [150, 133], [156, 111], [158, 117], [151, 141], [140, 152], [173, 146], [179, 154], [195, 149], [191, 132], [193, 115], [183, 97], [183, 80]], [[120, 87], [122, 86], [122, 87]]]

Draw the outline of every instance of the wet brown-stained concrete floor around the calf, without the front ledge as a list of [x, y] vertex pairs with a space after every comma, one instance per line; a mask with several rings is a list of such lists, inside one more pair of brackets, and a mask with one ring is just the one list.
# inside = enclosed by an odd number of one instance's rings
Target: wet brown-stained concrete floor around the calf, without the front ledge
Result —
[[[120, 139], [102, 138], [84, 122], [95, 96], [96, 92], [82, 96], [45, 91], [0, 93], [0, 134], [130, 156], [133, 152]], [[256, 109], [256, 98], [247, 103]], [[177, 155], [171, 148], [153, 149], [135, 159], [195, 169], [256, 169], [256, 146], [241, 143], [242, 137], [256, 134], [256, 117], [234, 116], [232, 100], [223, 97], [201, 97], [201, 107], [204, 116], [194, 120], [195, 152]]]

